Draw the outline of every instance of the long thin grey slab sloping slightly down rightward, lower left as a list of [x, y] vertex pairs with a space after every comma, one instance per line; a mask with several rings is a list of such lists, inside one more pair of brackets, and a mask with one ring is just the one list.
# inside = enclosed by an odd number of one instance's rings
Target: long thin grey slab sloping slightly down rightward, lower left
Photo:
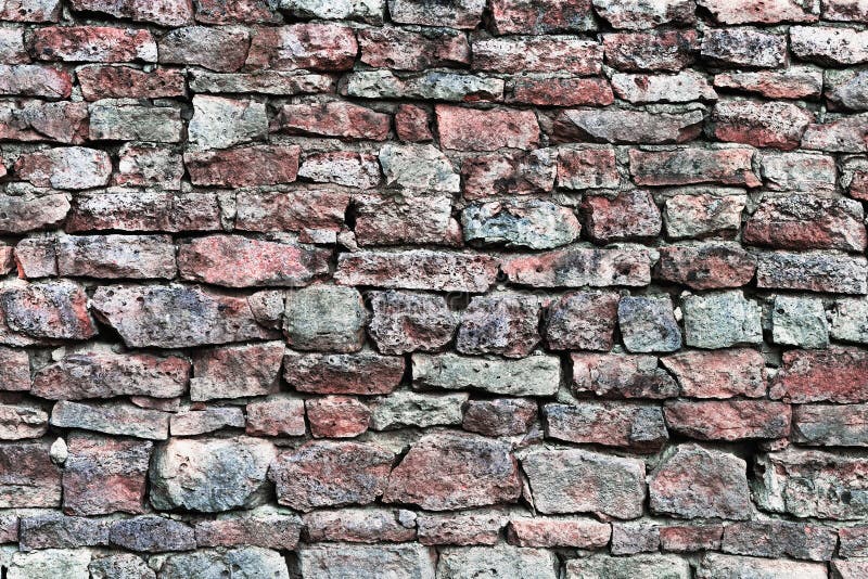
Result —
[[51, 411], [51, 425], [151, 440], [169, 437], [169, 414], [120, 402], [86, 404], [61, 400]]

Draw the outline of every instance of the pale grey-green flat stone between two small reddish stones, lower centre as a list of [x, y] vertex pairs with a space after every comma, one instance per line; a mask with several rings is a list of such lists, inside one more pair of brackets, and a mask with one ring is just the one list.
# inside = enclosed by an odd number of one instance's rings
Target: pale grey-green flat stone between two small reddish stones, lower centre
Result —
[[468, 394], [419, 394], [400, 390], [371, 400], [371, 429], [449, 426], [461, 424]]

